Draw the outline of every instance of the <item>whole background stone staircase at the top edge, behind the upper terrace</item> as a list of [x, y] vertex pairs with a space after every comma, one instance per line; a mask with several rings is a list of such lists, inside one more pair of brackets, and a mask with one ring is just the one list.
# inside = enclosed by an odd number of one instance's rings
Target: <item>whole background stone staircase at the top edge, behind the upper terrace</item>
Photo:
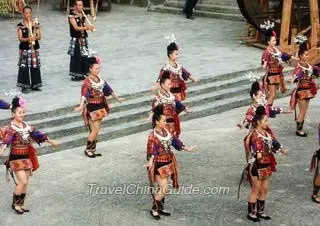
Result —
[[[148, 10], [182, 14], [184, 4], [184, 0], [167, 0], [160, 5], [150, 5]], [[244, 21], [236, 0], [199, 0], [194, 15], [216, 19]]]

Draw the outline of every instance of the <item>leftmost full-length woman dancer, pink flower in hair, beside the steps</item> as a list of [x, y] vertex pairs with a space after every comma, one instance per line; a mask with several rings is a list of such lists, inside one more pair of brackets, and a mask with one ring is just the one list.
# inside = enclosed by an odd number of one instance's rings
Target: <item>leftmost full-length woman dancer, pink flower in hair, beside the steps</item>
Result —
[[24, 122], [25, 100], [14, 98], [12, 100], [11, 112], [13, 119], [10, 125], [4, 130], [0, 155], [8, 145], [10, 147], [9, 166], [18, 178], [18, 183], [13, 193], [12, 209], [18, 214], [29, 212], [24, 206], [24, 200], [27, 192], [29, 176], [32, 171], [39, 168], [36, 150], [33, 148], [32, 140], [40, 144], [48, 142], [52, 146], [57, 146], [58, 142], [51, 140], [46, 135], [37, 131], [34, 126]]

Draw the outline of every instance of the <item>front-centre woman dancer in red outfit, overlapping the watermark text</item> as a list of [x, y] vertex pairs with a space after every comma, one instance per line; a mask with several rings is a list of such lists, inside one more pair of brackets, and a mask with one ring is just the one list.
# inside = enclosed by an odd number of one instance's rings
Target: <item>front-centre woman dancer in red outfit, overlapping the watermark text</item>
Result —
[[173, 182], [173, 188], [178, 188], [177, 162], [174, 153], [171, 151], [171, 145], [181, 151], [191, 152], [196, 146], [185, 147], [176, 137], [172, 136], [166, 129], [166, 116], [163, 114], [162, 105], [154, 109], [152, 117], [153, 131], [149, 134], [147, 143], [147, 161], [145, 165], [148, 169], [150, 187], [157, 183], [158, 189], [153, 196], [152, 210], [150, 214], [154, 219], [160, 220], [160, 214], [170, 216], [171, 214], [164, 210], [164, 198], [168, 193], [168, 178]]

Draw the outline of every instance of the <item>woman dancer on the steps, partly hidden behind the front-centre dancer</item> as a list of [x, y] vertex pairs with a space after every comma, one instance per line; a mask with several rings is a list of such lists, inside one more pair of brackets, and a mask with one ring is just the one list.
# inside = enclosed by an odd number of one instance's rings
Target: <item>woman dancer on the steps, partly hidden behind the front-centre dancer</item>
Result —
[[[161, 104], [164, 109], [167, 124], [166, 128], [171, 134], [179, 137], [181, 133], [179, 114], [182, 111], [191, 112], [191, 109], [186, 108], [179, 100], [176, 100], [174, 95], [170, 92], [172, 83], [170, 80], [170, 72], [164, 71], [160, 80], [160, 91], [152, 101], [152, 109]], [[147, 121], [153, 117], [153, 111], [150, 112]]]

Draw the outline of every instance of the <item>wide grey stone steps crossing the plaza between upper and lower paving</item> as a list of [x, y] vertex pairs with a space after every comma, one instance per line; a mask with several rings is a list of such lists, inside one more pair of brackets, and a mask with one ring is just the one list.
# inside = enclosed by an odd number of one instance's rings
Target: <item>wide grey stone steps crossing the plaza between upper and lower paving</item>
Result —
[[[248, 71], [257, 72], [260, 76], [263, 75], [261, 69]], [[188, 83], [187, 99], [184, 104], [191, 107], [193, 112], [181, 114], [182, 136], [183, 121], [206, 117], [248, 105], [250, 103], [248, 94], [250, 82], [245, 76], [248, 71], [203, 78], [199, 83]], [[288, 73], [290, 69], [285, 71]], [[122, 104], [111, 99], [111, 112], [102, 122], [99, 141], [112, 140], [150, 130], [151, 123], [145, 122], [145, 119], [148, 117], [153, 96], [150, 91], [126, 95], [124, 96], [126, 101]], [[39, 155], [80, 146], [85, 148], [88, 131], [84, 126], [81, 114], [73, 112], [74, 107], [68, 106], [52, 111], [30, 114], [26, 117], [26, 121], [29, 124], [36, 125], [40, 131], [61, 142], [61, 145], [56, 150], [48, 144], [37, 147]], [[8, 124], [9, 120], [1, 120], [0, 125]], [[239, 120], [241, 120], [240, 117]]]

